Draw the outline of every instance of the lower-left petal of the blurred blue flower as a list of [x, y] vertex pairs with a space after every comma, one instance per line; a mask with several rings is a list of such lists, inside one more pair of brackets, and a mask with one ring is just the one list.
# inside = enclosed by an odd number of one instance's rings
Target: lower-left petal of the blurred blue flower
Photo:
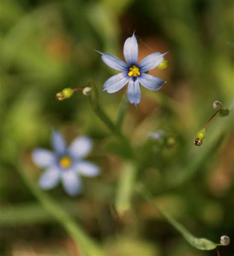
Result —
[[44, 171], [39, 178], [39, 186], [43, 189], [50, 189], [58, 184], [60, 171], [56, 167], [50, 167]]

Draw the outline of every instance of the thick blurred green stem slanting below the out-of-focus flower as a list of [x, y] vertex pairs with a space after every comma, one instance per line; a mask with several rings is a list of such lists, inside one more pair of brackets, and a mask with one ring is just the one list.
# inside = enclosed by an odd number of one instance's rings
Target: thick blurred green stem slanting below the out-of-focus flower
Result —
[[25, 184], [32, 191], [40, 204], [46, 209], [54, 218], [61, 223], [64, 229], [75, 240], [76, 245], [81, 248], [83, 255], [97, 255], [104, 256], [105, 252], [99, 248], [98, 245], [82, 230], [78, 223], [47, 193], [40, 190], [34, 182], [32, 182], [25, 171], [17, 169]]

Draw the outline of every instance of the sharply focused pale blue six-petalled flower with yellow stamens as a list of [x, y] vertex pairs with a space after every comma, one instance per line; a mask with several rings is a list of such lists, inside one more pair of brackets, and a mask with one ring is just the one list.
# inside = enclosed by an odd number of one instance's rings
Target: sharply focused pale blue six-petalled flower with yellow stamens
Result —
[[114, 93], [128, 83], [128, 99], [130, 103], [134, 103], [135, 106], [141, 100], [140, 84], [150, 90], [159, 90], [164, 83], [160, 78], [149, 75], [146, 72], [156, 68], [163, 61], [163, 56], [166, 53], [152, 53], [138, 64], [138, 44], [134, 34], [132, 37], [126, 39], [123, 46], [123, 54], [126, 63], [109, 53], [98, 52], [102, 54], [103, 62], [109, 67], [122, 71], [122, 73], [109, 78], [104, 83], [104, 90], [109, 93]]

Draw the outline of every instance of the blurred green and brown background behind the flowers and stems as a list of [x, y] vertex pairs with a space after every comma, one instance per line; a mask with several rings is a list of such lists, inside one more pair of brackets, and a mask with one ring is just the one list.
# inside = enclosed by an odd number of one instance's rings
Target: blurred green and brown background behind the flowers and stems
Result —
[[[223, 234], [234, 253], [233, 116], [215, 117], [201, 147], [193, 140], [214, 113], [213, 101], [234, 101], [233, 0], [0, 0], [0, 255], [78, 255], [73, 240], [37, 202], [17, 173], [27, 166], [35, 185], [42, 170], [31, 152], [51, 148], [52, 128], [72, 141], [94, 141], [90, 160], [102, 174], [83, 178], [84, 192], [71, 199], [61, 186], [49, 191], [111, 256], [215, 256], [191, 247], [156, 210], [135, 194], [132, 208], [117, 219], [115, 201], [124, 149], [77, 92], [59, 102], [64, 87], [92, 79], [99, 101], [117, 117], [124, 89], [108, 94], [113, 74], [94, 51], [122, 58], [135, 31], [139, 59], [169, 51], [169, 67], [150, 74], [167, 81], [160, 91], [142, 88], [123, 123], [141, 162], [137, 179], [168, 213], [198, 237], [218, 242]], [[165, 130], [173, 147], [147, 143]], [[21, 163], [21, 164], [19, 164]]]

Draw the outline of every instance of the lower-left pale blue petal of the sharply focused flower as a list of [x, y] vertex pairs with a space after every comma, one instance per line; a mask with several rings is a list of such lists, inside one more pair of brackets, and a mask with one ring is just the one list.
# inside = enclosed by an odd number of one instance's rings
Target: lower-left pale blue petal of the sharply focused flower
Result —
[[110, 77], [103, 85], [104, 89], [109, 93], [114, 93], [120, 90], [124, 85], [127, 84], [129, 76], [126, 72], [119, 73], [113, 77]]

